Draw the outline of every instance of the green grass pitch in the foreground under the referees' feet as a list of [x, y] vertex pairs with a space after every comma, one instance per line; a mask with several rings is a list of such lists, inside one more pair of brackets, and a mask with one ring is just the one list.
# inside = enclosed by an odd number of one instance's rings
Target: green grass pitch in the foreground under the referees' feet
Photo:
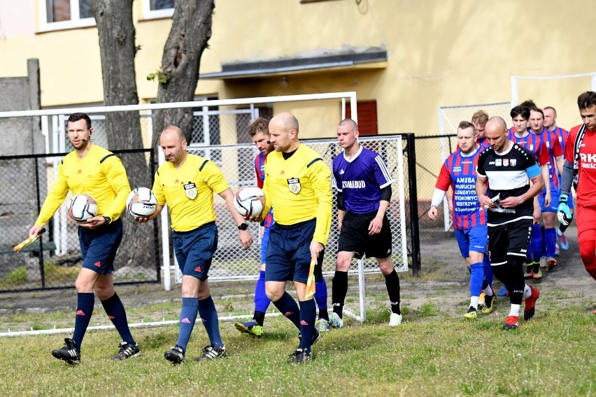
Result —
[[[0, 361], [5, 363], [0, 395], [593, 395], [596, 316], [583, 306], [559, 307], [556, 299], [544, 303], [536, 318], [522, 320], [520, 329], [509, 332], [502, 329], [503, 313], [464, 322], [433, 303], [404, 308], [404, 324], [392, 329], [388, 310], [372, 304], [367, 324], [350, 320], [329, 331], [313, 348], [315, 360], [303, 366], [286, 364], [298, 340], [297, 330], [283, 317], [268, 317], [261, 339], [221, 322], [229, 357], [206, 363], [192, 361], [208, 344], [199, 323], [188, 346], [189, 361], [182, 366], [163, 358], [176, 343], [177, 326], [133, 329], [142, 355], [122, 362], [109, 360], [117, 352], [118, 333], [90, 331], [82, 363], [74, 367], [50, 355], [68, 335], [0, 338]], [[179, 309], [178, 302], [167, 302], [131, 308], [129, 315], [158, 317], [151, 312], [167, 310], [166, 317], [176, 318]], [[72, 312], [47, 313], [49, 320], [38, 315], [12, 317], [36, 328], [60, 317], [71, 321]]]

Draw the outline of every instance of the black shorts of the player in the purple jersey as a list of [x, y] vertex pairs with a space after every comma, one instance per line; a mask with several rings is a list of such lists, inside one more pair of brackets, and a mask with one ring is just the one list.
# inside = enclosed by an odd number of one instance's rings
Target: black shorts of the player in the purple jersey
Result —
[[353, 214], [346, 212], [341, 224], [337, 251], [355, 252], [359, 258], [385, 259], [391, 256], [391, 226], [387, 215], [383, 217], [381, 233], [369, 235], [369, 224], [376, 216], [375, 212]]

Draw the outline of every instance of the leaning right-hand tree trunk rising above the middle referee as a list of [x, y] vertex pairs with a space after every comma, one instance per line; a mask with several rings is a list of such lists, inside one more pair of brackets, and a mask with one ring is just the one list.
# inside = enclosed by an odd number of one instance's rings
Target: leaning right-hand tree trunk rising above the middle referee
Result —
[[[157, 103], [186, 102], [194, 99], [199, 81], [201, 55], [211, 38], [213, 0], [176, 0], [170, 34], [162, 57], [162, 79]], [[184, 131], [190, 142], [192, 108], [167, 109], [154, 113], [153, 147], [159, 147], [159, 133], [168, 125]]]

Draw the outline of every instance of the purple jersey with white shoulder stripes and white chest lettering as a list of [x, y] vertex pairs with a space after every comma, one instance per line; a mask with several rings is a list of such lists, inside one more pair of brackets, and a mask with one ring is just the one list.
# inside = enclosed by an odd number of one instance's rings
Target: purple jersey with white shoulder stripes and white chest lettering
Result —
[[381, 189], [395, 182], [381, 155], [362, 146], [351, 159], [343, 152], [334, 157], [333, 179], [346, 210], [355, 214], [378, 210]]

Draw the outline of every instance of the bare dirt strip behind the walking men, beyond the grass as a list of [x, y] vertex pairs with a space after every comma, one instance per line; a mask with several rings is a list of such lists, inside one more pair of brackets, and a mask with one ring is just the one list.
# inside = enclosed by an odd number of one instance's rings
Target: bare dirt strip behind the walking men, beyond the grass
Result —
[[[581, 303], [586, 305], [587, 311], [591, 311], [596, 308], [596, 282], [588, 275], [581, 263], [574, 226], [567, 231], [567, 238], [569, 251], [561, 251], [559, 265], [555, 270], [552, 273], [544, 272], [541, 280], [531, 280], [530, 283], [539, 287], [542, 296], [556, 297], [561, 305]], [[402, 305], [407, 305], [410, 310], [418, 310], [427, 302], [435, 302], [442, 312], [448, 312], [454, 316], [462, 315], [462, 310], [465, 310], [469, 299], [469, 273], [465, 269], [455, 238], [432, 238], [432, 240], [423, 238], [420, 245], [423, 259], [420, 278], [414, 280], [411, 277], [400, 276], [402, 277]], [[328, 280], [327, 284], [330, 302], [332, 283]], [[350, 281], [350, 284], [355, 286], [354, 281]], [[500, 289], [501, 285], [495, 281], [495, 289]], [[177, 301], [180, 296], [179, 284], [173, 284], [172, 291], [164, 291], [159, 284], [127, 285], [120, 286], [117, 290], [125, 304], [132, 307]], [[214, 282], [212, 290], [216, 304], [220, 298], [243, 301], [239, 305], [234, 303], [234, 310], [246, 310], [247, 314], [252, 312], [250, 294], [254, 291], [254, 282]], [[367, 291], [385, 291], [382, 277], [368, 276]], [[505, 303], [503, 298], [500, 301]], [[96, 304], [99, 305], [99, 301], [96, 301]], [[16, 312], [73, 310], [75, 305], [76, 293], [73, 289], [0, 294], [0, 315]], [[374, 302], [371, 302], [371, 305], [374, 305]], [[218, 310], [225, 311], [226, 308], [218, 307]]]

